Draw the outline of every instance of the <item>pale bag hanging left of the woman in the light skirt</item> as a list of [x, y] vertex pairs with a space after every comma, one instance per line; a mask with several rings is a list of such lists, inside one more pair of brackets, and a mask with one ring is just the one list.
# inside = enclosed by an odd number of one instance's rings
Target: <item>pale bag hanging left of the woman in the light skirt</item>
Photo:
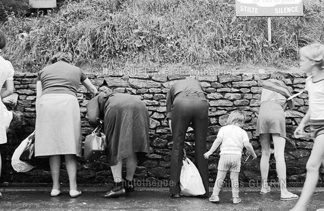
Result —
[[34, 166], [19, 160], [19, 158], [23, 152], [23, 149], [26, 147], [26, 145], [28, 143], [28, 138], [31, 135], [33, 135], [34, 133], [35, 133], [35, 131], [32, 134], [30, 134], [26, 139], [21, 141], [21, 143], [19, 144], [19, 146], [16, 148], [15, 152], [12, 155], [11, 166], [17, 172], [27, 172], [34, 168]]

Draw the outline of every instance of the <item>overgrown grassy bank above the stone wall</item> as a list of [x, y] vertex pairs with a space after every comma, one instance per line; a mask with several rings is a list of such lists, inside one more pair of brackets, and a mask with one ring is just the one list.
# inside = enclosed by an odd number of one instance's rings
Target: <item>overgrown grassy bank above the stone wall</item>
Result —
[[[304, 17], [235, 18], [235, 0], [78, 0], [0, 25], [17, 70], [37, 72], [58, 51], [85, 68], [141, 65], [297, 66], [298, 48], [324, 43], [324, 2], [304, 0]], [[27, 36], [18, 38], [20, 33]]]

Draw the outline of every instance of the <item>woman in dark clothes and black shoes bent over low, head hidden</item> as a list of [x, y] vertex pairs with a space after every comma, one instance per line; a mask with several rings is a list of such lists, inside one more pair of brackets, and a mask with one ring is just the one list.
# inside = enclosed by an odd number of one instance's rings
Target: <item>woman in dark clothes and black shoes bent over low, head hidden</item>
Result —
[[[149, 115], [145, 104], [129, 94], [100, 93], [87, 104], [89, 124], [96, 127], [104, 119], [108, 163], [115, 186], [102, 197], [113, 198], [133, 192], [133, 176], [137, 166], [136, 153], [149, 156]], [[126, 179], [122, 184], [122, 159], [126, 159]]]

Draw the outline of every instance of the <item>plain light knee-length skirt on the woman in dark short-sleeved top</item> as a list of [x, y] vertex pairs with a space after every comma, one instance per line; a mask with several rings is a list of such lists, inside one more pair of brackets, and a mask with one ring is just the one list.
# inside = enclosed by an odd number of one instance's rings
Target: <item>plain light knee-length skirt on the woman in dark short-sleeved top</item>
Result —
[[36, 102], [35, 156], [82, 155], [78, 99], [70, 94], [45, 94]]

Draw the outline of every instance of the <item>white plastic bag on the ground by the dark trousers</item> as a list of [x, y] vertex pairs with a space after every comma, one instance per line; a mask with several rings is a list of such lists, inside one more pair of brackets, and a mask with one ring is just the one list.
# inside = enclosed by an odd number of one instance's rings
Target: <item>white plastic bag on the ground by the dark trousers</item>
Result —
[[196, 166], [185, 158], [180, 174], [180, 195], [198, 196], [206, 193], [202, 177]]

